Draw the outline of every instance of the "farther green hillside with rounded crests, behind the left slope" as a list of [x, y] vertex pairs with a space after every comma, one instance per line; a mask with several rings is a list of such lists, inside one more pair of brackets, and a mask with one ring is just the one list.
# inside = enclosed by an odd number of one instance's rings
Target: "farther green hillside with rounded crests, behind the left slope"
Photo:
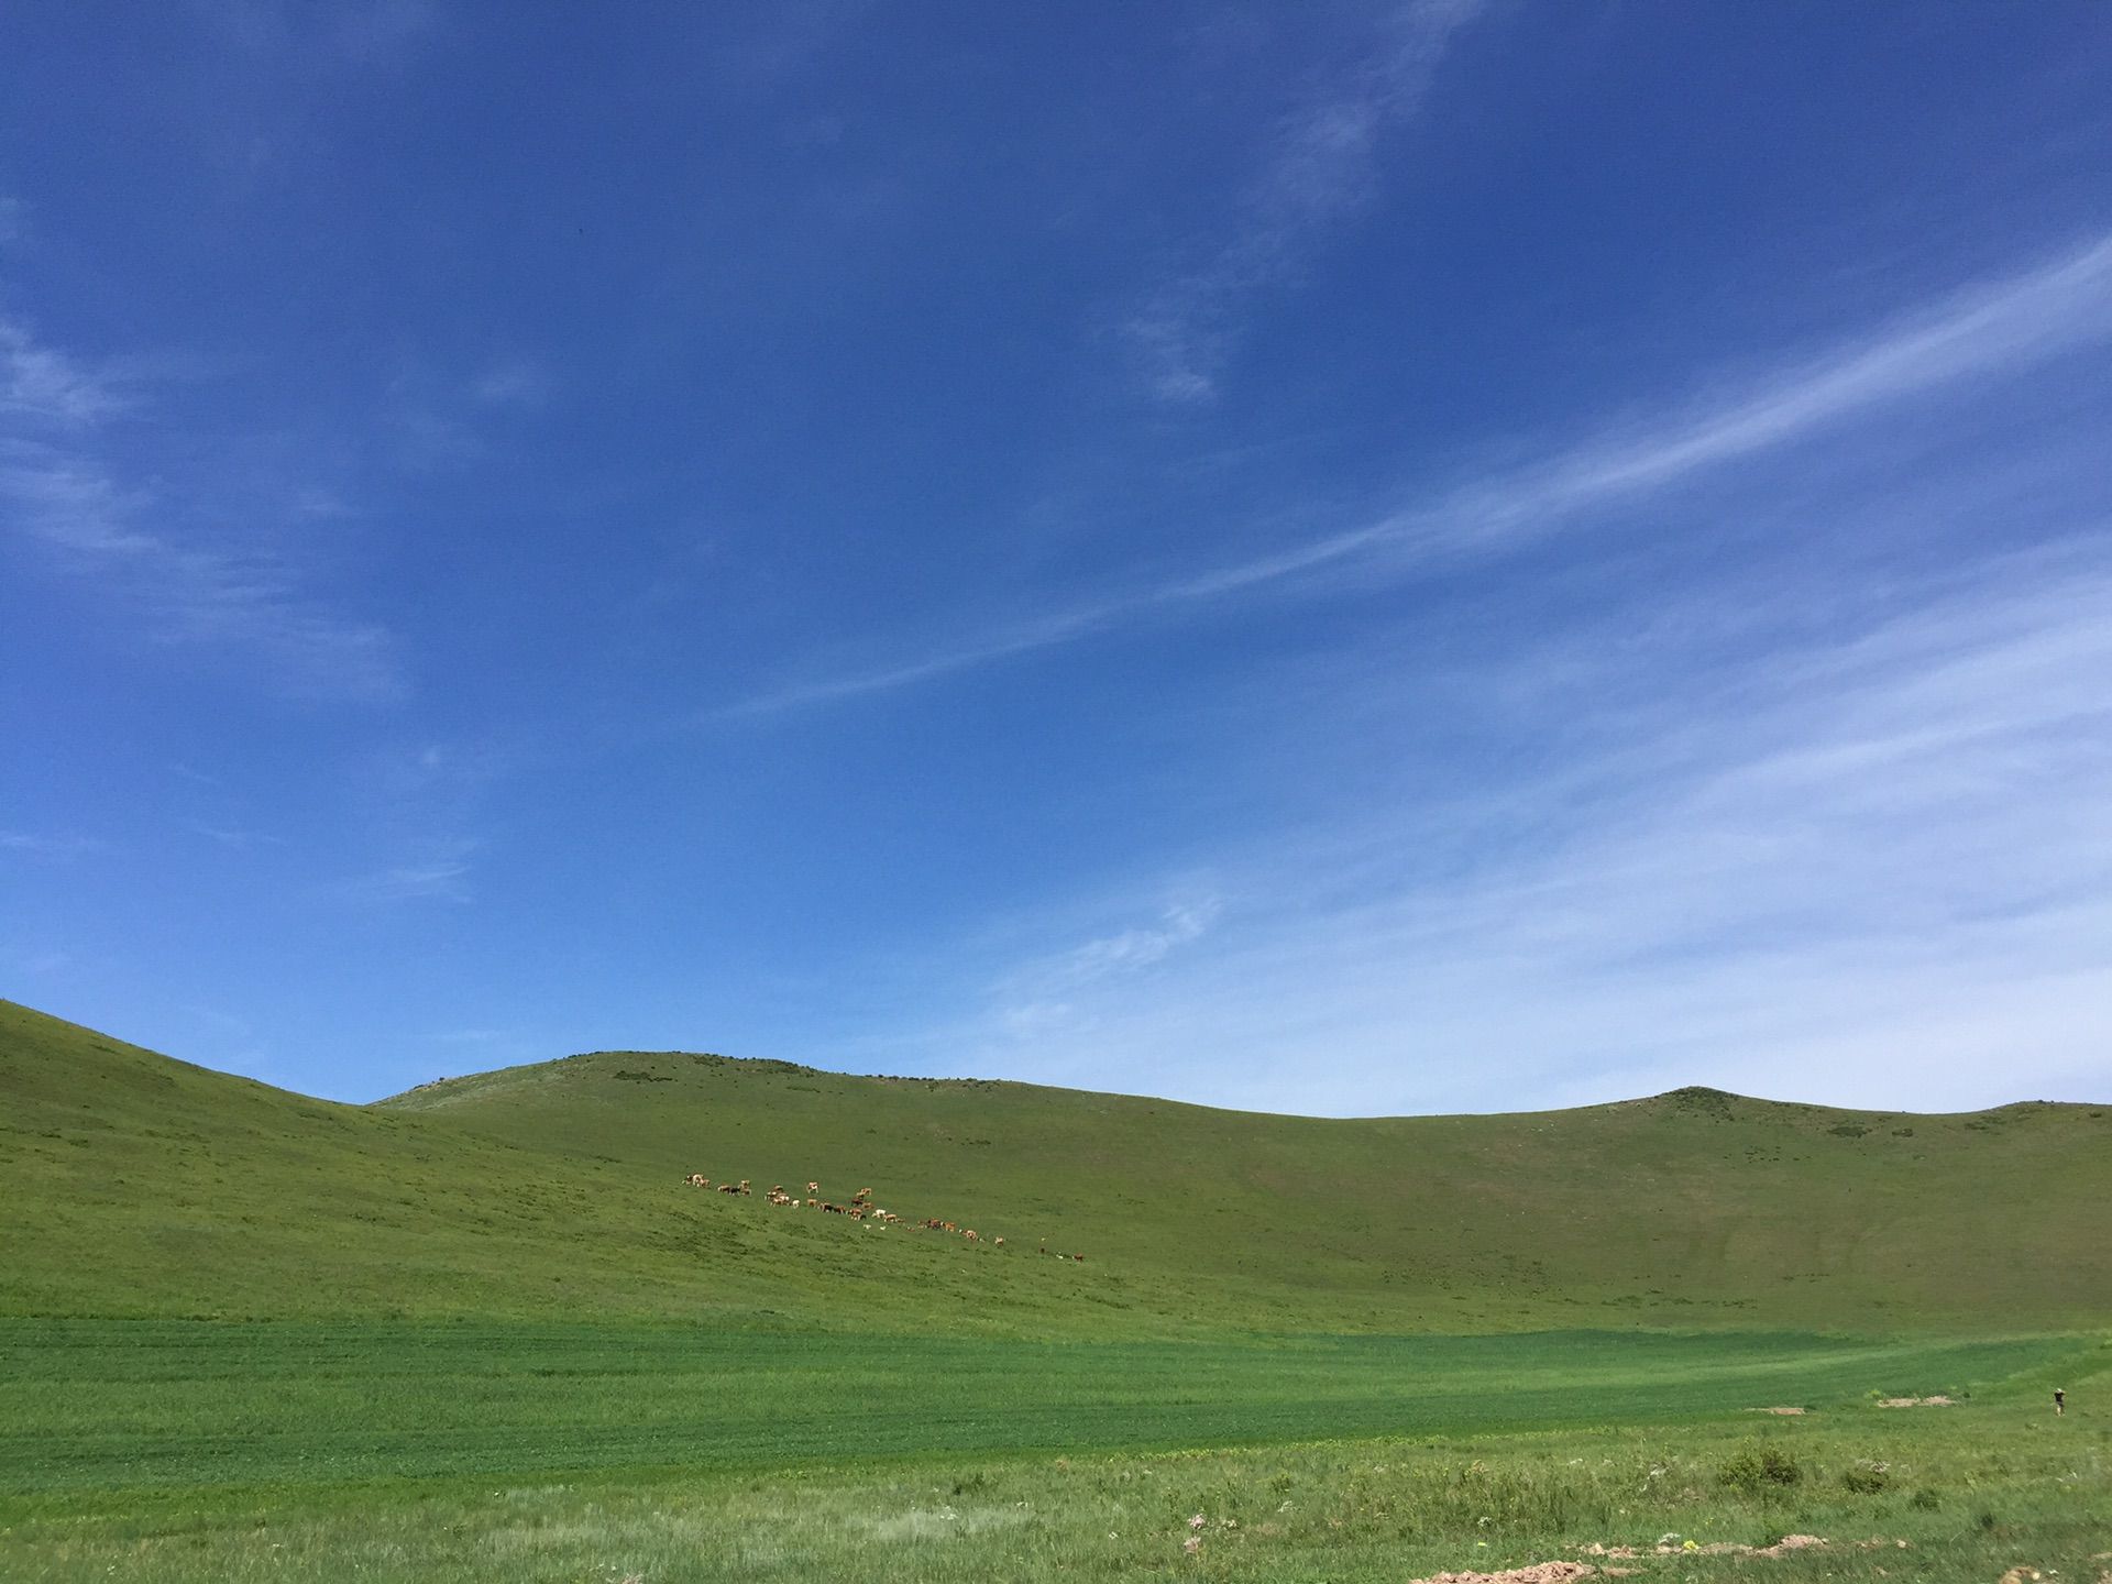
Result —
[[1229, 1312], [1286, 1295], [1345, 1328], [2089, 1324], [2112, 1299], [2106, 1107], [1930, 1117], [1681, 1090], [1343, 1121], [638, 1052], [382, 1107], [648, 1176], [872, 1185], [904, 1212], [1170, 1274]]

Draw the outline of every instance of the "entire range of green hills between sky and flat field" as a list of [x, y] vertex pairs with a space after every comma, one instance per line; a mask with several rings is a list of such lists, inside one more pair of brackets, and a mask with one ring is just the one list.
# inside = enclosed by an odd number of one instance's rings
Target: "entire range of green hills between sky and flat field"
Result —
[[[760, 1198], [809, 1178], [984, 1242]], [[2049, 1331], [2112, 1312], [2106, 1204], [2112, 1107], [1339, 1121], [672, 1052], [346, 1107], [0, 1001], [4, 1314]]]

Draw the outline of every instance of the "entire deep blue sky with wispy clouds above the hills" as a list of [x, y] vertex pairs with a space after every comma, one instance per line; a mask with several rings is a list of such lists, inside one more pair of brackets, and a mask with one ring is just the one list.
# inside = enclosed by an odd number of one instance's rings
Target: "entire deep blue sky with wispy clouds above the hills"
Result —
[[0, 993], [2112, 1098], [2112, 11], [0, 13]]

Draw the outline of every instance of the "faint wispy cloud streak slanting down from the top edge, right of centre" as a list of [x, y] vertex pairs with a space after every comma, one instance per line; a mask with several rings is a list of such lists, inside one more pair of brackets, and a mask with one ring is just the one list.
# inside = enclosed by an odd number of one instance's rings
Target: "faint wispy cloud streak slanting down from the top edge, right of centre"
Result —
[[1217, 395], [1250, 298], [1284, 285], [1379, 184], [1381, 137], [1415, 114], [1453, 34], [1481, 0], [1415, 0], [1385, 15], [1352, 70], [1284, 116], [1240, 199], [1236, 234], [1198, 268], [1155, 287], [1124, 336], [1162, 401]]

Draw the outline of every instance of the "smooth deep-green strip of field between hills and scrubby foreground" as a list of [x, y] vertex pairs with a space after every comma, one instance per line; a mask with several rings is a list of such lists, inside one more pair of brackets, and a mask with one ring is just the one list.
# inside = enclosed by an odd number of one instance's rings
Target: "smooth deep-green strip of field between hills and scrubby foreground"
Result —
[[1652, 1423], [1945, 1392], [2074, 1343], [1542, 1333], [1018, 1343], [697, 1326], [4, 1322], [0, 1489], [746, 1468]]

